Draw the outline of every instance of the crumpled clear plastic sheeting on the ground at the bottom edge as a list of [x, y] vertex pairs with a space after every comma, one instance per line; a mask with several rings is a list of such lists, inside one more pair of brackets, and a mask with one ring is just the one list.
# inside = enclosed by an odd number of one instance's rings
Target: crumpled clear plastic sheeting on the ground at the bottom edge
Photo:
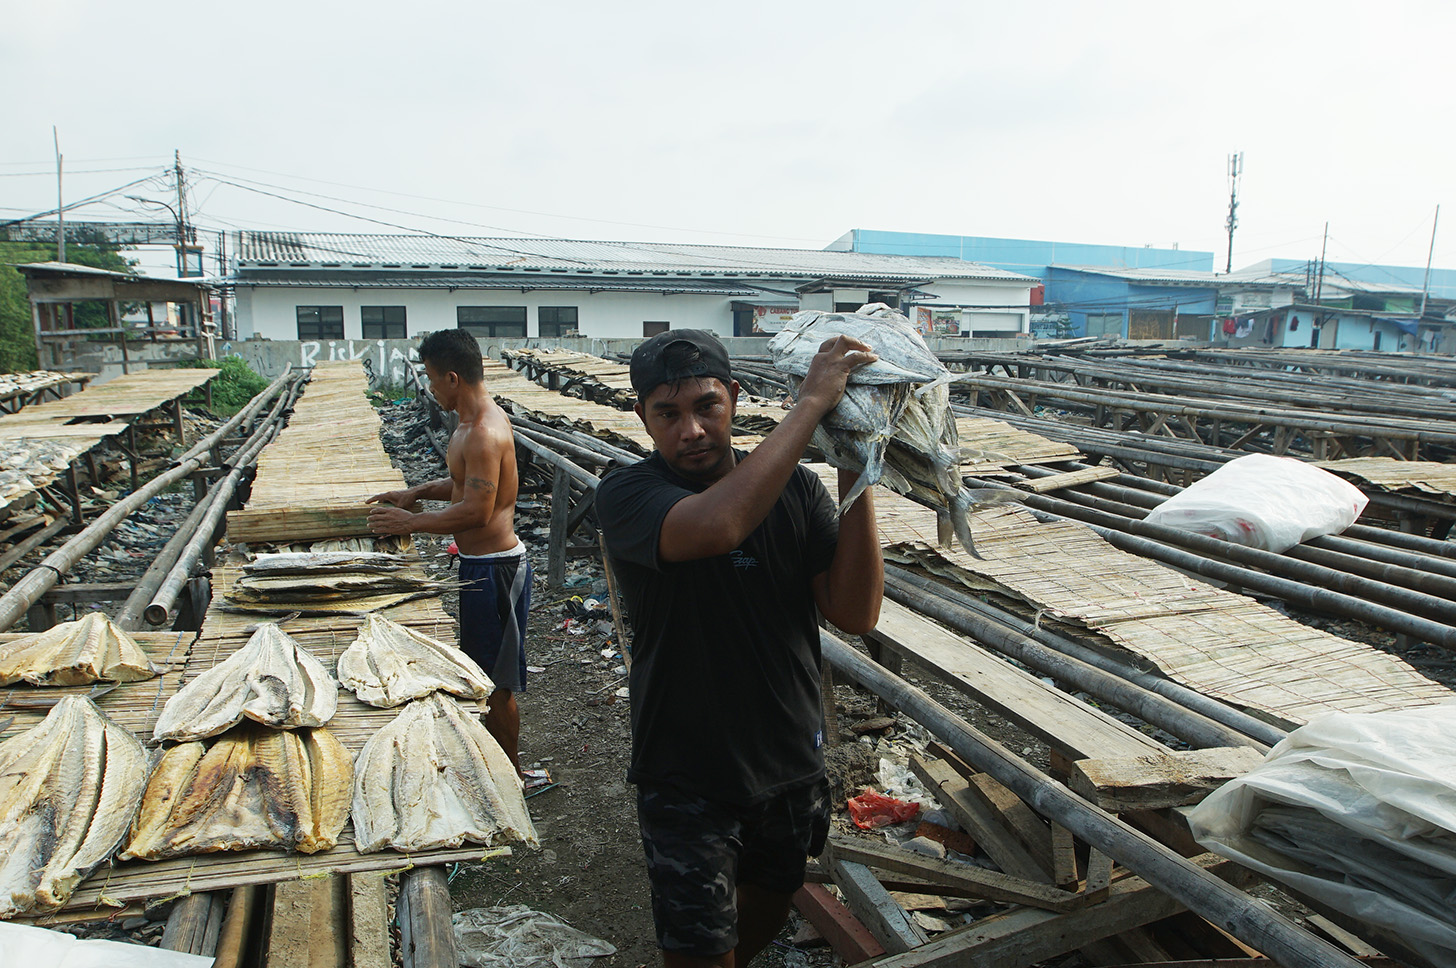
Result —
[[587, 968], [593, 958], [617, 953], [614, 945], [524, 904], [473, 907], [451, 923], [460, 964], [472, 968]]

